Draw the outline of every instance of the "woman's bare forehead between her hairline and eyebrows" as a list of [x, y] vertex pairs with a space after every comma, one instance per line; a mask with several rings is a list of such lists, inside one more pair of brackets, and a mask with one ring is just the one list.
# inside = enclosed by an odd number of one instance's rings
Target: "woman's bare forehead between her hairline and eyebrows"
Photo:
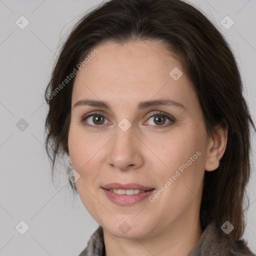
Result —
[[[72, 105], [82, 97], [129, 104], [153, 97], [195, 97], [181, 63], [161, 41], [107, 42], [95, 48], [98, 53], [76, 74]], [[177, 80], [170, 75], [173, 69], [182, 72]]]

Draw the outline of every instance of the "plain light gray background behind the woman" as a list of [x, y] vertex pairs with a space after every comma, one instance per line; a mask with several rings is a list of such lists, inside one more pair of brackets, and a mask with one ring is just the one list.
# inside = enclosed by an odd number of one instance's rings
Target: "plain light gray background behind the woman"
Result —
[[[0, 256], [78, 255], [97, 227], [79, 197], [72, 194], [63, 166], [59, 165], [59, 173], [51, 182], [43, 145], [47, 110], [43, 93], [63, 38], [84, 11], [100, 2], [0, 0]], [[255, 121], [256, 0], [189, 2], [199, 6], [231, 45]], [[21, 15], [29, 21], [24, 29], [15, 23]], [[229, 29], [220, 23], [226, 15], [234, 21]], [[19, 126], [24, 124], [21, 118], [28, 124], [23, 130]], [[243, 236], [253, 252], [255, 145], [253, 133], [250, 206]], [[29, 226], [23, 235], [15, 228], [21, 220]]]

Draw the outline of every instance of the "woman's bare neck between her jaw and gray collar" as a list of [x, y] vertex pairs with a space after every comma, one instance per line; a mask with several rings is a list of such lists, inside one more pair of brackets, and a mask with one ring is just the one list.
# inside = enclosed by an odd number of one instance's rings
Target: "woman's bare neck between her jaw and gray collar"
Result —
[[105, 256], [187, 256], [195, 247], [202, 230], [199, 218], [176, 220], [171, 226], [147, 238], [119, 238], [103, 229]]

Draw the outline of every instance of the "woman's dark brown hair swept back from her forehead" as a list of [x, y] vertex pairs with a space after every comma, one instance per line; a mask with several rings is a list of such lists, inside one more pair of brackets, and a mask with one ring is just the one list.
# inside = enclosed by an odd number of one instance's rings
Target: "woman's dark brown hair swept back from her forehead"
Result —
[[[53, 95], [86, 55], [105, 41], [161, 40], [177, 54], [203, 111], [205, 128], [212, 135], [216, 124], [228, 124], [226, 150], [214, 171], [205, 171], [200, 206], [202, 229], [215, 220], [234, 226], [238, 239], [244, 230], [243, 198], [250, 174], [250, 125], [254, 128], [234, 56], [220, 32], [195, 7], [181, 0], [110, 0], [85, 14], [61, 48], [45, 90], [49, 110], [45, 145], [52, 162], [68, 154], [67, 138], [73, 80]], [[49, 96], [50, 95], [50, 96]], [[70, 170], [69, 170], [70, 171]], [[76, 191], [75, 183], [70, 182]]]

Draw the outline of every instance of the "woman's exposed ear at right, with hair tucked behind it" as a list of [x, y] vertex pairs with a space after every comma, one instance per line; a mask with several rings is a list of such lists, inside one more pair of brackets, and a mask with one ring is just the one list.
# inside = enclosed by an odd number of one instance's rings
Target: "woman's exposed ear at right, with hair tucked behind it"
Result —
[[227, 130], [228, 124], [225, 119], [215, 126], [213, 137], [208, 142], [208, 150], [204, 167], [206, 171], [215, 170], [219, 166], [219, 160], [226, 149]]

